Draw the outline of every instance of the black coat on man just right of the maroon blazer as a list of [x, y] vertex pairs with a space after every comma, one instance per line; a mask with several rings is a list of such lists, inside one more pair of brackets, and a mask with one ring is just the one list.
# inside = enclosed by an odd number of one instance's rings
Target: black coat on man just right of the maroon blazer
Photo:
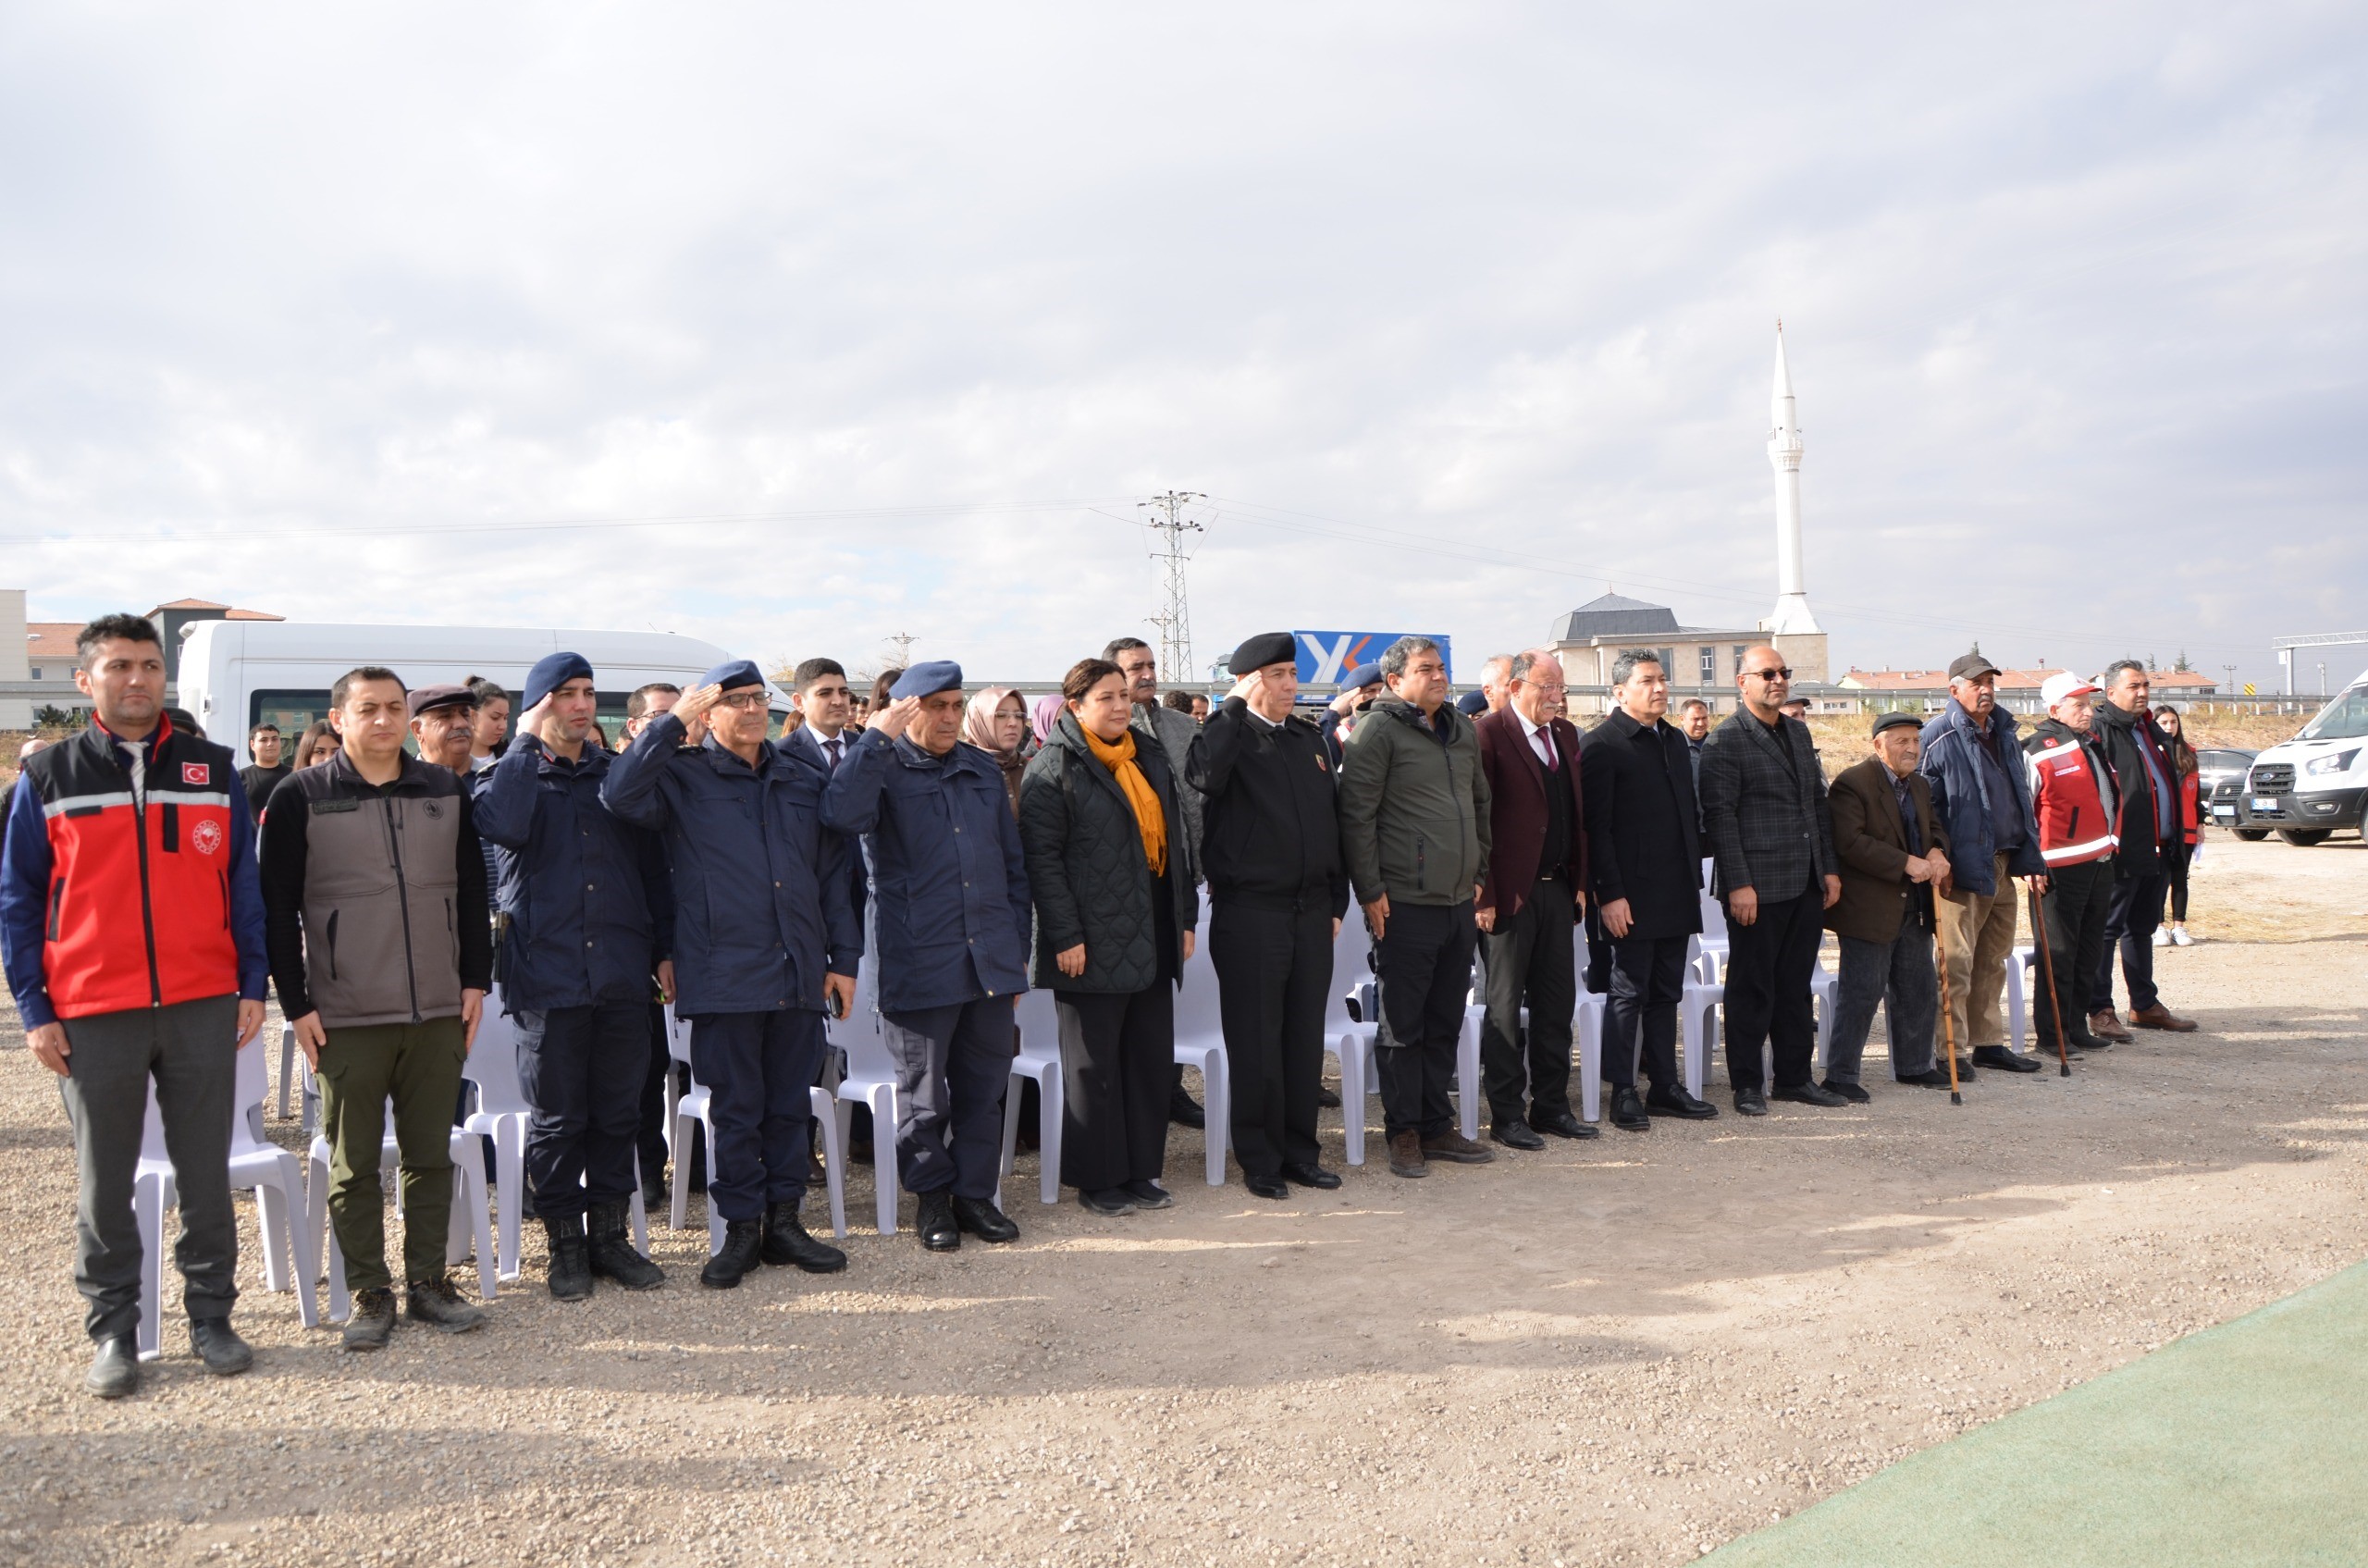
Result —
[[1587, 798], [1587, 879], [1594, 905], [1629, 900], [1632, 938], [1703, 928], [1703, 841], [1693, 815], [1693, 758], [1667, 722], [1650, 730], [1613, 711], [1579, 741]]

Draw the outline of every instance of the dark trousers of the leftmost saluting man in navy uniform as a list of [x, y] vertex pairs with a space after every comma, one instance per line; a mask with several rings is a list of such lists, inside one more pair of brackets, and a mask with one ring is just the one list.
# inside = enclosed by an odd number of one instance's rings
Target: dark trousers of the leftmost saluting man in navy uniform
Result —
[[635, 1132], [649, 1078], [649, 1004], [519, 1009], [526, 1191], [542, 1220], [635, 1194]]

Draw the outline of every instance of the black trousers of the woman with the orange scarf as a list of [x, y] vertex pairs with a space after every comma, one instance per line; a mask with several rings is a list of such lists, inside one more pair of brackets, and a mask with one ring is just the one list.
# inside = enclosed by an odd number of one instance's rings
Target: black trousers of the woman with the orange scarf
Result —
[[1167, 981], [1115, 995], [1061, 992], [1061, 1180], [1080, 1191], [1158, 1182], [1167, 1163]]

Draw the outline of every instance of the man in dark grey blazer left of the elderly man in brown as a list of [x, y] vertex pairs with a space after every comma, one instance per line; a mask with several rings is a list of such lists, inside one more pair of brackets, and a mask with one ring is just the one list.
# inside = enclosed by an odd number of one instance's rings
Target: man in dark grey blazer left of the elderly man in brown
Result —
[[1726, 1078], [1736, 1111], [1767, 1116], [1759, 1045], [1776, 1052], [1776, 1099], [1849, 1104], [1809, 1082], [1816, 1021], [1809, 973], [1823, 914], [1842, 895], [1833, 808], [1809, 727], [1783, 715], [1793, 670], [1757, 647], [1736, 675], [1740, 711], [1703, 741], [1703, 827], [1726, 900]]

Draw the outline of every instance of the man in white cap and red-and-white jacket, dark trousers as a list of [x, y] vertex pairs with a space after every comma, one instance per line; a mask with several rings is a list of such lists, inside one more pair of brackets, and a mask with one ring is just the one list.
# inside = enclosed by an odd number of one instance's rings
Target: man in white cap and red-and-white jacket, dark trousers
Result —
[[[2096, 734], [2093, 680], [2048, 675], [2039, 687], [2046, 720], [2022, 741], [2032, 779], [2032, 815], [2039, 853], [2048, 862], [2048, 891], [2039, 898], [2048, 924], [2048, 966], [2055, 992], [2039, 990], [2039, 1049], [2055, 1040], [2063, 1018], [2065, 1047], [2100, 1052], [2110, 1037], [2093, 1030], [2089, 990], [2105, 964], [2105, 919], [2112, 912], [2115, 829], [2122, 789]], [[2126, 1035], [2122, 1035], [2126, 1040]]]

